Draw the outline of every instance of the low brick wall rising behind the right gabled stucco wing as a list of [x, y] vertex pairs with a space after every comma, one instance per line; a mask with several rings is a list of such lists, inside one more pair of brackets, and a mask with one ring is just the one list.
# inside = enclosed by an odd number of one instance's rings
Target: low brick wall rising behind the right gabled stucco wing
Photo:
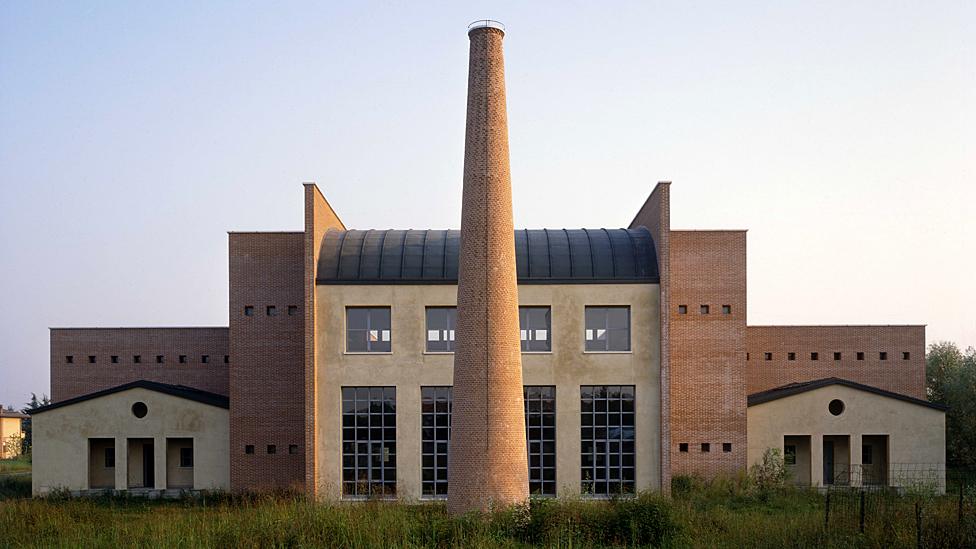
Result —
[[[749, 326], [746, 334], [749, 393], [839, 377], [926, 398], [925, 326]], [[840, 360], [834, 360], [837, 352]], [[817, 360], [811, 353], [818, 353]]]

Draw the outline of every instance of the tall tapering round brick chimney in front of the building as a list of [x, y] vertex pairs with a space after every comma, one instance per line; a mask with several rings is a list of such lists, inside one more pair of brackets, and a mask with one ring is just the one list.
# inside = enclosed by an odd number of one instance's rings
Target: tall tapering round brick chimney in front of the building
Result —
[[447, 509], [528, 498], [501, 24], [468, 31], [468, 118]]

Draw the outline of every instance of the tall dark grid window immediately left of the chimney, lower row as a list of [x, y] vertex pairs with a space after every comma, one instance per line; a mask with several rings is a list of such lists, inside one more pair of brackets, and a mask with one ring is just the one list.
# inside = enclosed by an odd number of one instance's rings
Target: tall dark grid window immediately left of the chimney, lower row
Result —
[[420, 388], [421, 475], [424, 497], [447, 497], [451, 388]]

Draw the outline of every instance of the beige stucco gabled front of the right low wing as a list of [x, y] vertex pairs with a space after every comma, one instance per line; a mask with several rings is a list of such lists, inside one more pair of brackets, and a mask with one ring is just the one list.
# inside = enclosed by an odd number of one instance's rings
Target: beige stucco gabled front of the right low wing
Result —
[[[833, 416], [827, 404], [844, 402], [844, 413]], [[749, 407], [749, 463], [762, 459], [767, 448], [783, 449], [785, 435], [810, 435], [810, 470], [815, 486], [823, 483], [823, 438], [849, 435], [848, 456], [835, 458], [836, 464], [849, 459], [861, 465], [861, 437], [887, 435], [887, 461], [890, 484], [904, 485], [936, 472], [944, 480], [945, 413], [841, 385], [821, 387]], [[835, 448], [835, 453], [838, 451]], [[911, 471], [910, 473], [903, 471]], [[908, 478], [908, 477], [912, 478]], [[855, 479], [855, 484], [857, 479]]]

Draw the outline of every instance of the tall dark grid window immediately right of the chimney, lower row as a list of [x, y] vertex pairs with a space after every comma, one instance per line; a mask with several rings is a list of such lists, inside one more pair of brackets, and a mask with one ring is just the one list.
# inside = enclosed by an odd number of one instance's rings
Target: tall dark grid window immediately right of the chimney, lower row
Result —
[[556, 388], [525, 386], [525, 439], [529, 494], [556, 495]]

